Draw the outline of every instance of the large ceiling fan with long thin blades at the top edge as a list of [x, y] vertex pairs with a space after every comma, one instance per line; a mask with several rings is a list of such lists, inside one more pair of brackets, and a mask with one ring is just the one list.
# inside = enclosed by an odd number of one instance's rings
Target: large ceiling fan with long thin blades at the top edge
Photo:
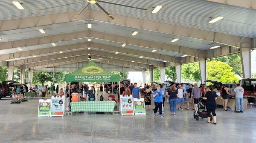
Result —
[[[76, 2], [76, 3], [81, 3], [81, 2]], [[100, 9], [102, 9], [102, 11], [104, 11], [108, 15], [108, 17], [110, 17], [112, 20], [116, 20], [114, 17], [111, 16], [111, 14], [109, 14], [107, 11], [105, 11], [105, 9], [103, 9], [102, 6], [99, 5], [99, 2], [148, 11], [148, 9], [138, 8], [136, 6], [127, 6], [127, 5], [123, 5], [123, 4], [111, 3], [111, 2], [102, 1], [102, 0], [87, 0], [87, 2], [88, 2], [88, 4], [78, 14], [76, 14], [76, 16], [73, 18], [73, 20], [76, 20], [76, 18], [79, 17], [79, 15], [84, 11], [84, 9], [86, 9], [90, 4], [96, 4]], [[49, 7], [49, 8], [45, 8], [45, 9], [36, 9], [36, 10], [41, 11], [41, 10], [52, 9], [52, 8], [61, 7], [61, 6], [72, 5], [72, 4], [76, 4], [76, 3], [69, 3], [69, 4], [60, 5], [60, 6], [53, 6], [53, 7]]]

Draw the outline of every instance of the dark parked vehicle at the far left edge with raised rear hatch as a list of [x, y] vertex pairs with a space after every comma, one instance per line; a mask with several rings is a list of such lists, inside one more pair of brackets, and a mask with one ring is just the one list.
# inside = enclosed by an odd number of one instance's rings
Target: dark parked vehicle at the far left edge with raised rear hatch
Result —
[[0, 99], [6, 96], [9, 96], [11, 94], [11, 89], [9, 86], [13, 86], [13, 83], [17, 83], [16, 81], [13, 80], [7, 80], [7, 81], [3, 81], [2, 83], [0, 83]]

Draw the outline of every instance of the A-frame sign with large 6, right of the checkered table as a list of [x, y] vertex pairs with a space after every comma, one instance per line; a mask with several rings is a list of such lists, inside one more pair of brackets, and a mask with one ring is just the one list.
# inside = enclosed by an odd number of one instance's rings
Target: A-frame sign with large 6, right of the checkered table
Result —
[[120, 97], [120, 106], [122, 115], [134, 115], [134, 106], [132, 97]]

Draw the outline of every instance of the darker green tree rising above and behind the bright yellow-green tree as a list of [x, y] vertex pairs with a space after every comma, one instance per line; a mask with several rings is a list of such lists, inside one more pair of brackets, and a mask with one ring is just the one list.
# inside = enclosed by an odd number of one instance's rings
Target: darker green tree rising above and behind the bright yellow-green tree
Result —
[[221, 62], [227, 63], [228, 65], [230, 65], [233, 68], [233, 72], [235, 72], [235, 74], [238, 74], [239, 76], [243, 77], [240, 53], [230, 54], [227, 56], [221, 56], [221, 57], [209, 59], [209, 61], [211, 61], [211, 60], [216, 60], [216, 61], [221, 61]]

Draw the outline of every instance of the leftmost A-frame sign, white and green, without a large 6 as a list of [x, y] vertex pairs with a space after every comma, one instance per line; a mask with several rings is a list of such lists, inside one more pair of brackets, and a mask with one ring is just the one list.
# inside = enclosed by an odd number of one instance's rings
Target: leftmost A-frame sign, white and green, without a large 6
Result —
[[49, 117], [50, 116], [51, 100], [40, 99], [38, 102], [38, 117]]

